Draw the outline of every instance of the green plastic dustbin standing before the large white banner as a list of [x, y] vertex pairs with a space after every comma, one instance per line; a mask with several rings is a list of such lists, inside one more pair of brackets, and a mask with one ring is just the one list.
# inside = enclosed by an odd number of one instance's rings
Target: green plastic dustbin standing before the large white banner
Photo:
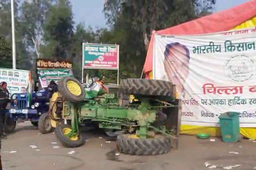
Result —
[[239, 112], [226, 112], [219, 116], [222, 140], [224, 142], [239, 141]]

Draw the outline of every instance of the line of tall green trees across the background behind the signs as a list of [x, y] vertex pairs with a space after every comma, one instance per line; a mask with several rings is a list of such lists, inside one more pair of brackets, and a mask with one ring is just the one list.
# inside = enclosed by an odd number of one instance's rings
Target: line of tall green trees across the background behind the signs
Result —
[[[35, 73], [39, 57], [73, 62], [74, 76], [82, 77], [82, 43], [119, 44], [119, 78], [139, 78], [152, 30], [161, 30], [213, 11], [215, 0], [106, 0], [103, 12], [110, 29], [74, 26], [72, 1], [15, 0], [17, 68]], [[10, 0], [0, 1], [0, 60], [11, 68]], [[116, 70], [85, 69], [116, 83]], [[85, 75], [84, 75], [85, 77]]]

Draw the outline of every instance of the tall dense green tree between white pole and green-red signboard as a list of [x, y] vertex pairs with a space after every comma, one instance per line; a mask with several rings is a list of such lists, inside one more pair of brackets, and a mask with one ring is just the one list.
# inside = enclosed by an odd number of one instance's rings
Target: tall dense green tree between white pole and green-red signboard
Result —
[[70, 59], [73, 36], [73, 14], [68, 0], [59, 0], [49, 8], [43, 26], [44, 40], [42, 53], [45, 58]]

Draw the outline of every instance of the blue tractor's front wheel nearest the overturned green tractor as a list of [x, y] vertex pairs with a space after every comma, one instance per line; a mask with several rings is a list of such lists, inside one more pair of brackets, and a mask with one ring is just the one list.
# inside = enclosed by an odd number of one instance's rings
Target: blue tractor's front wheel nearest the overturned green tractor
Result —
[[43, 113], [39, 117], [38, 129], [43, 134], [50, 133], [53, 131], [53, 127], [51, 125], [51, 119], [49, 119], [48, 113]]

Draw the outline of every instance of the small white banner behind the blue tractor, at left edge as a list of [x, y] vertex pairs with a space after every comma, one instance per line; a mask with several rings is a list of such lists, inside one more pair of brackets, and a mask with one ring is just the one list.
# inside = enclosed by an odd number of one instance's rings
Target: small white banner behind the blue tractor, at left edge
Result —
[[29, 71], [0, 68], [0, 82], [7, 83], [10, 96], [13, 93], [27, 93], [30, 83]]

